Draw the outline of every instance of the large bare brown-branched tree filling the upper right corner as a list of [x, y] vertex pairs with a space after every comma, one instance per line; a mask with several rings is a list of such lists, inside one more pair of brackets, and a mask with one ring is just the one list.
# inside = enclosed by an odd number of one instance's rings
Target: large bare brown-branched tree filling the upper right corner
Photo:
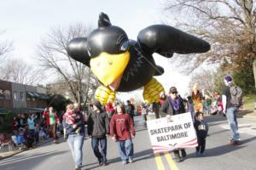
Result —
[[[245, 67], [244, 61], [253, 60], [253, 74], [256, 88], [256, 2], [254, 0], [167, 0], [166, 11], [179, 16], [177, 26], [203, 37], [212, 43], [212, 50], [181, 58], [195, 66], [207, 63], [226, 62]], [[193, 64], [193, 65], [192, 65]]]

